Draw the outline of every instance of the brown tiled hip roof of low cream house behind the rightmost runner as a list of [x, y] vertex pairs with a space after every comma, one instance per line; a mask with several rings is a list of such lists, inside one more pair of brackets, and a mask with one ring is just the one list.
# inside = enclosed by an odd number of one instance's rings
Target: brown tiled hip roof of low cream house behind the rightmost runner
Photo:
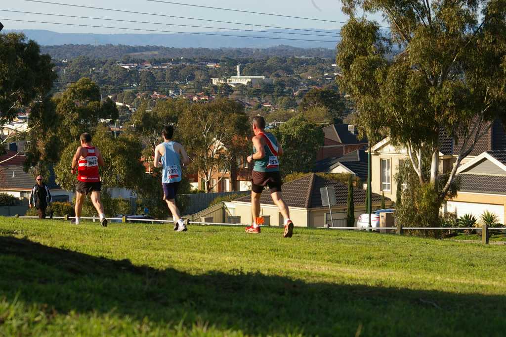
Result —
[[[348, 202], [348, 184], [339, 181], [331, 181], [311, 173], [302, 178], [287, 182], [283, 185], [283, 200], [288, 207], [301, 208], [319, 208], [323, 207], [321, 203], [320, 188], [333, 186], [335, 190], [335, 201], [337, 205], [345, 206]], [[353, 200], [355, 204], [365, 203], [365, 191], [355, 187], [353, 189]], [[386, 200], [389, 200], [386, 198]], [[236, 201], [250, 202], [251, 197], [242, 197]], [[381, 196], [372, 194], [372, 202], [380, 202]], [[264, 190], [260, 198], [260, 203], [274, 205], [270, 192]]]

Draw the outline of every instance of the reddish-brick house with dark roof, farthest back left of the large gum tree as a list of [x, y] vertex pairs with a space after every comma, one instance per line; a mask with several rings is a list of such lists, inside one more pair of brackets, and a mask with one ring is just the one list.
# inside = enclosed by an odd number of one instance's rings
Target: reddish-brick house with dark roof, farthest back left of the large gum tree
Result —
[[354, 125], [332, 124], [323, 128], [325, 139], [316, 160], [342, 157], [350, 152], [367, 147], [367, 139], [359, 139]]

